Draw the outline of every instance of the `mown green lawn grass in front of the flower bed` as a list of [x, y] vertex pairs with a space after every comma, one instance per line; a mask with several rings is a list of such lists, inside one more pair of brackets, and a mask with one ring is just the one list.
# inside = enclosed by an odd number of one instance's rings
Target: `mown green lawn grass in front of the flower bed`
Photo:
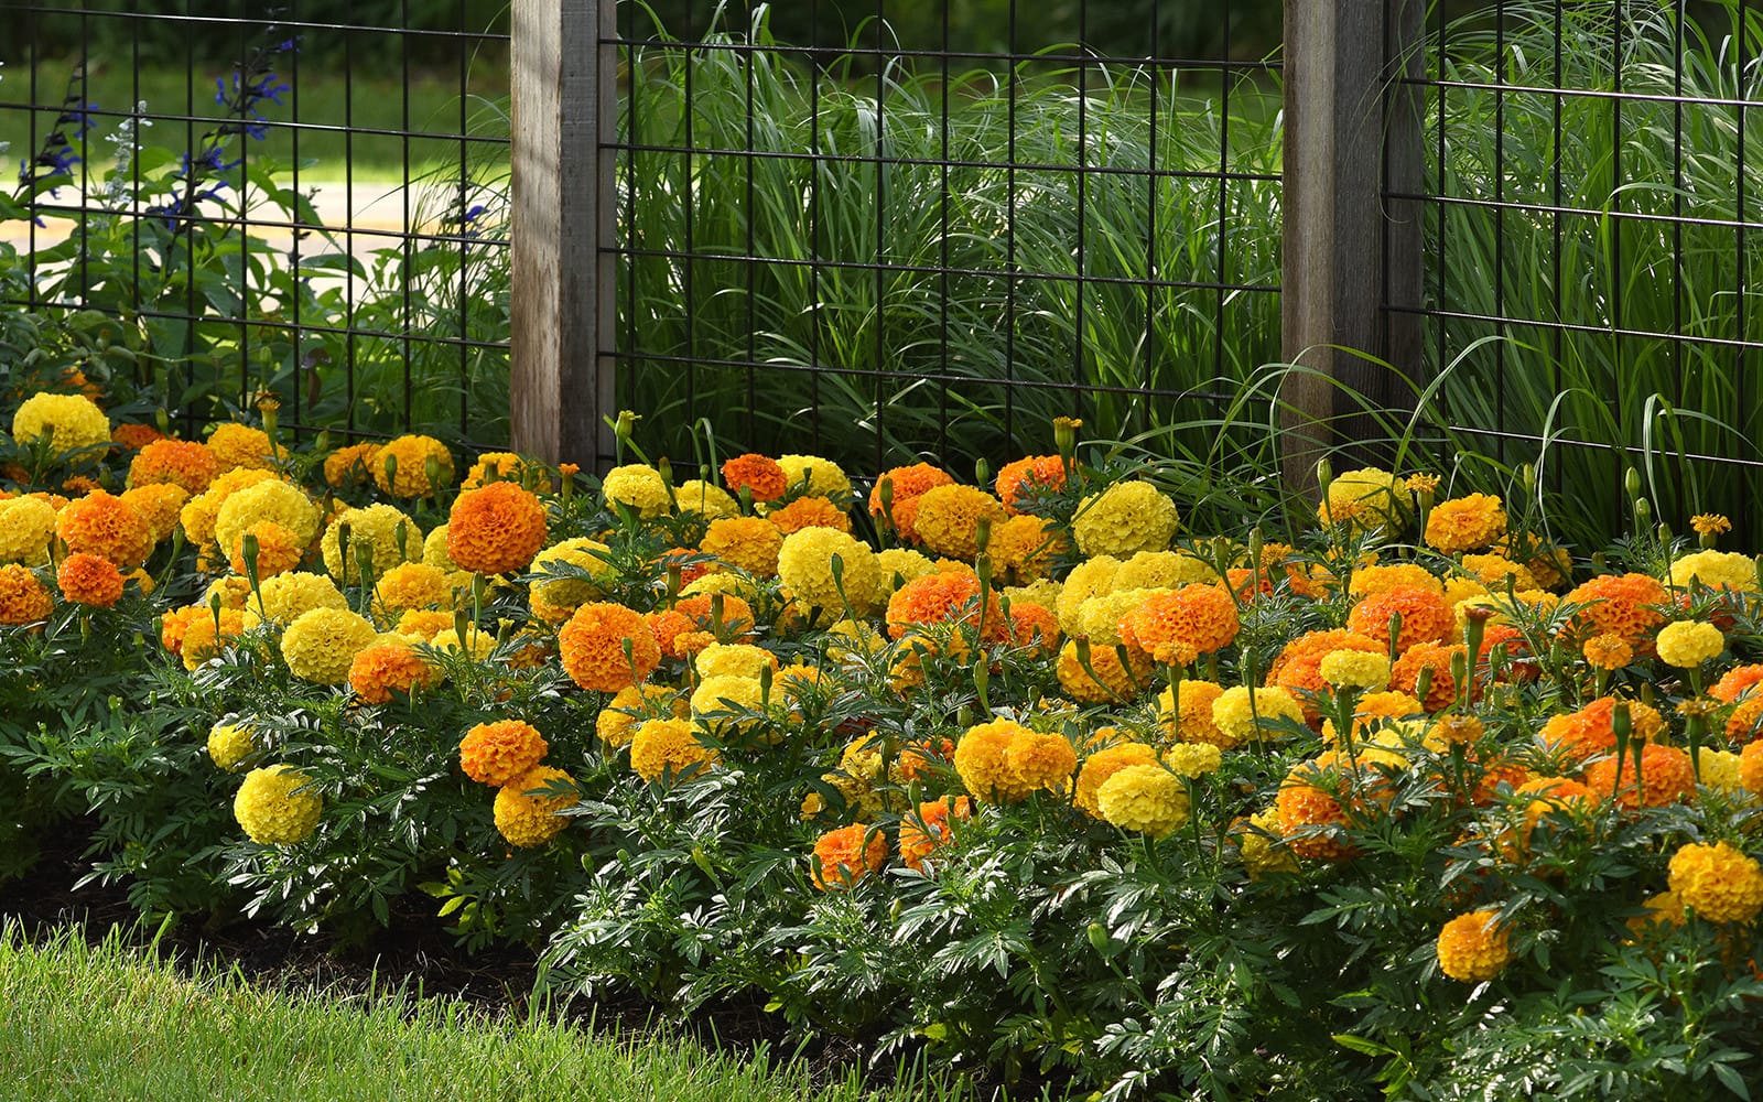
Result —
[[867, 1091], [663, 1033], [614, 1040], [402, 991], [268, 991], [212, 963], [180, 970], [120, 931], [32, 943], [0, 927], [0, 1098], [575, 1098], [827, 1102], [966, 1098], [943, 1083]]

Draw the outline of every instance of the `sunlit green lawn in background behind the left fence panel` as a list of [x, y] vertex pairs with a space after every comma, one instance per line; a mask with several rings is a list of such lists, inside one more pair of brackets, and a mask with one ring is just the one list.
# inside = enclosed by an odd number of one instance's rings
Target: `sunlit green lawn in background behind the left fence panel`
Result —
[[[0, 171], [0, 183], [11, 187], [18, 162], [28, 159], [55, 125], [56, 104], [67, 93], [71, 71], [72, 63], [67, 60], [41, 62], [35, 90], [32, 90], [32, 74], [26, 69], [18, 65], [0, 69], [0, 145], [11, 143], [5, 160], [0, 162], [5, 166]], [[199, 143], [201, 136], [219, 122], [215, 79], [226, 72], [224, 67], [215, 67], [215, 72], [199, 71], [190, 76], [182, 67], [150, 67], [136, 76], [127, 63], [109, 65], [95, 60], [86, 79], [86, 101], [97, 104], [100, 111], [127, 111], [130, 106], [145, 102], [150, 118], [173, 115], [213, 120], [157, 118], [152, 127], [143, 127], [143, 145], [182, 152]], [[284, 81], [289, 79], [286, 72], [280, 76]], [[252, 157], [268, 155], [293, 164], [298, 148], [301, 162], [316, 162], [301, 169], [303, 175], [310, 173], [314, 180], [342, 180], [353, 166], [356, 180], [398, 182], [405, 178], [405, 166], [411, 176], [421, 176], [425, 169], [435, 166], [458, 166], [462, 155], [458, 134], [462, 132], [508, 136], [508, 58], [478, 58], [467, 69], [464, 127], [458, 71], [413, 69], [409, 95], [405, 95], [404, 74], [397, 58], [358, 63], [353, 78], [335, 69], [303, 69], [294, 81], [294, 90], [282, 95], [282, 106], [273, 102], [263, 106], [270, 134], [263, 141], [249, 143]], [[33, 113], [14, 106], [26, 102], [42, 104], [44, 109]], [[32, 141], [32, 115], [35, 115], [37, 127], [35, 143]], [[115, 146], [109, 138], [115, 136], [120, 122], [118, 116], [99, 115], [97, 125], [86, 134], [85, 157], [99, 176], [115, 160]], [[298, 129], [286, 123], [298, 123]], [[420, 130], [444, 138], [404, 139], [361, 132], [349, 136], [344, 127], [354, 130]], [[467, 143], [465, 157], [474, 166], [506, 162], [508, 146]]]

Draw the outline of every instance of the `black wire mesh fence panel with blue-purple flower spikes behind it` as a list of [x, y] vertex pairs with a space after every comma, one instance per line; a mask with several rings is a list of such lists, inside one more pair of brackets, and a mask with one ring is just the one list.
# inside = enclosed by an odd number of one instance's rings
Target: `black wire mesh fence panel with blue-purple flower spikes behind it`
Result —
[[7, 4], [0, 307], [192, 425], [273, 395], [294, 428], [506, 439], [510, 37], [483, 9]]

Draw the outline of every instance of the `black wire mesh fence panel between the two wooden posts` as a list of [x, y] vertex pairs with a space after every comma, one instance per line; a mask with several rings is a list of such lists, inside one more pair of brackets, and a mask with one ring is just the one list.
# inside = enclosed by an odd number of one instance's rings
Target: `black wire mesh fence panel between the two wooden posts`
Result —
[[1278, 360], [1276, 9], [1176, 39], [1171, 2], [1135, 34], [993, 7], [621, 5], [621, 406], [859, 469], [1045, 450], [1053, 416], [1204, 455], [1245, 416]]

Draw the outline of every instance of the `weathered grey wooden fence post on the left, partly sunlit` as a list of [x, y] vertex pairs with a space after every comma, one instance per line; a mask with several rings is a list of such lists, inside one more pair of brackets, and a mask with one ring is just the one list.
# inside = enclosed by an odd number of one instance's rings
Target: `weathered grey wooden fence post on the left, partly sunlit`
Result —
[[615, 414], [615, 0], [513, 0], [513, 319], [517, 450], [605, 467]]

